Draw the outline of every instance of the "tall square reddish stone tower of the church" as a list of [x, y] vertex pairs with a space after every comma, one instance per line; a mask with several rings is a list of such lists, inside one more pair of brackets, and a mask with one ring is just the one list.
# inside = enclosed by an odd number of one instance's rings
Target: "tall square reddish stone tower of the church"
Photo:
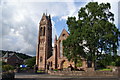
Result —
[[46, 70], [47, 59], [52, 56], [52, 23], [50, 15], [43, 13], [39, 23], [38, 43], [36, 50], [36, 65], [38, 69]]

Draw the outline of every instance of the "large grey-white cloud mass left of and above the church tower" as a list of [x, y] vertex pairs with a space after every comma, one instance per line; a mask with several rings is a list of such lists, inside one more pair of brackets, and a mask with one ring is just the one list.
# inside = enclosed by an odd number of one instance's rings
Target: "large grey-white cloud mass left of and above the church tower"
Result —
[[[63, 2], [32, 2], [2, 1], [2, 36], [0, 41], [3, 50], [12, 50], [35, 55], [39, 22], [43, 12], [55, 16], [67, 13], [67, 4]], [[62, 6], [61, 6], [62, 5]], [[56, 23], [52, 20], [52, 40], [57, 34]], [[53, 44], [53, 43], [52, 43]]]

